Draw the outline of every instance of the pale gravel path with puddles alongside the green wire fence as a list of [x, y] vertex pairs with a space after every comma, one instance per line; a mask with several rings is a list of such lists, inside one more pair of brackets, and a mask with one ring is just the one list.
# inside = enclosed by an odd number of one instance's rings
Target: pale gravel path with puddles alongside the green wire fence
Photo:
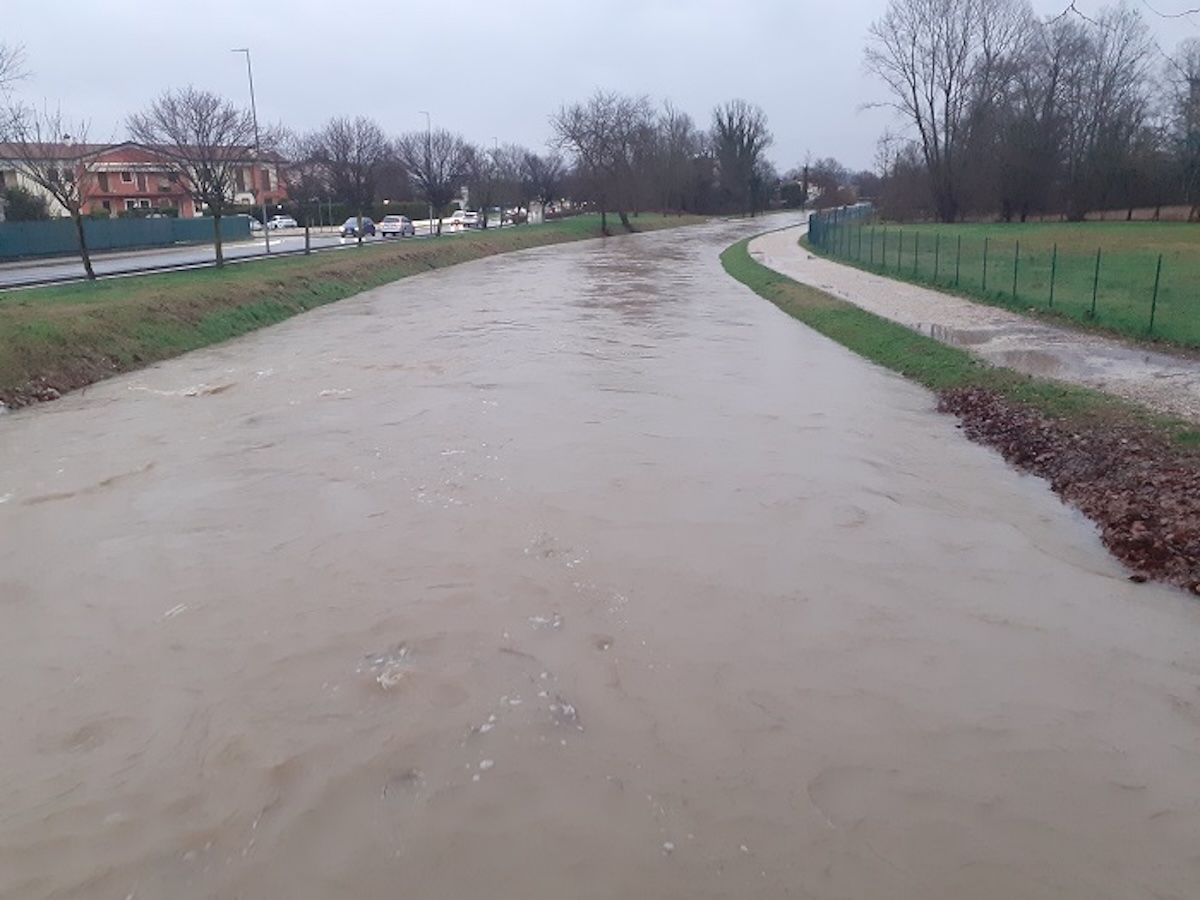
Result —
[[1200, 421], [1200, 361], [1042, 324], [841, 265], [802, 247], [799, 239], [805, 230], [806, 226], [798, 226], [756, 238], [750, 242], [750, 256], [790, 278], [964, 347], [995, 365], [1096, 388]]

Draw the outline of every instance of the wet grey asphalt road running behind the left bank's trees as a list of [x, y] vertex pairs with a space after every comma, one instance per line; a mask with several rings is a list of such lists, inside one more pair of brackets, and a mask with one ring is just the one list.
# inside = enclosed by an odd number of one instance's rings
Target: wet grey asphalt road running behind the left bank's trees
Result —
[[[449, 234], [449, 232], [444, 232]], [[418, 238], [427, 236], [420, 229]], [[366, 238], [364, 242], [384, 240], [383, 238]], [[396, 240], [388, 238], [386, 240]], [[412, 239], [406, 239], [412, 240]], [[341, 238], [336, 234], [312, 233], [313, 250], [330, 250], [337, 247], [349, 247], [355, 244], [352, 238]], [[294, 253], [304, 250], [304, 229], [288, 229], [287, 232], [271, 233], [271, 253]], [[262, 236], [250, 240], [229, 242], [224, 245], [227, 260], [250, 259], [262, 257], [266, 253], [265, 241]], [[100, 276], [127, 275], [148, 269], [190, 268], [212, 264], [212, 245], [198, 244], [186, 247], [154, 248], [130, 251], [122, 253], [104, 253], [94, 256], [92, 269]], [[78, 257], [24, 260], [19, 263], [6, 263], [0, 265], [0, 289], [42, 284], [47, 282], [72, 281], [83, 278], [83, 263]]]

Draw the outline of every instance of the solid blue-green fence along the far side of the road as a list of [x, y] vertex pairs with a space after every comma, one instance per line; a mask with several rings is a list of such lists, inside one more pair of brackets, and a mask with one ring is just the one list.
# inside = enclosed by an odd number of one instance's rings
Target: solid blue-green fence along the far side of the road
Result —
[[[212, 218], [86, 218], [83, 230], [88, 248], [95, 252], [145, 250], [210, 242]], [[222, 217], [221, 236], [226, 240], [248, 238], [250, 217]], [[0, 259], [71, 256], [77, 252], [74, 223], [68, 218], [0, 222]]]

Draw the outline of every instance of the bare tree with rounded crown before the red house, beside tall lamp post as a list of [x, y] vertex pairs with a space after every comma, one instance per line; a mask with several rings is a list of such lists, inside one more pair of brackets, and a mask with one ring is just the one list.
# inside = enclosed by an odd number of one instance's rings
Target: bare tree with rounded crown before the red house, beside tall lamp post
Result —
[[145, 112], [131, 115], [128, 128], [175, 170], [197, 203], [208, 206], [216, 264], [223, 265], [221, 216], [233, 199], [238, 170], [256, 154], [250, 110], [188, 86], [168, 90]]

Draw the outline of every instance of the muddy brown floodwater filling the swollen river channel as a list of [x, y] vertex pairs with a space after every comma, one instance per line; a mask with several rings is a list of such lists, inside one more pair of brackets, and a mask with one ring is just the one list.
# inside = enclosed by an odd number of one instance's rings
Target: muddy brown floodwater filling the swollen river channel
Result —
[[0, 419], [0, 896], [1196, 896], [1200, 605], [751, 227]]

